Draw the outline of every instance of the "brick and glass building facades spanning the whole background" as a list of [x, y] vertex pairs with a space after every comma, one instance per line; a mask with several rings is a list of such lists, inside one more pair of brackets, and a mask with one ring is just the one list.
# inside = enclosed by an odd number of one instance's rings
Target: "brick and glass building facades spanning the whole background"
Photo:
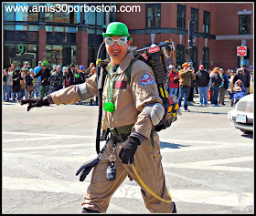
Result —
[[[71, 62], [88, 67], [95, 63], [102, 32], [112, 21], [129, 27], [133, 46], [138, 48], [172, 39], [175, 56], [168, 60], [187, 61], [188, 21], [195, 22], [192, 61], [198, 68], [240, 67], [237, 46], [247, 46], [245, 64], [253, 64], [254, 3], [69, 3], [60, 5], [114, 5], [116, 12], [8, 12], [5, 6], [57, 6], [54, 3], [5, 3], [3, 11], [4, 67], [28, 61], [32, 67], [47, 58], [50, 67]], [[137, 6], [132, 8], [132, 6]], [[127, 6], [133, 12], [121, 12]], [[139, 6], [139, 7], [138, 7]], [[119, 10], [119, 11], [118, 11]]]

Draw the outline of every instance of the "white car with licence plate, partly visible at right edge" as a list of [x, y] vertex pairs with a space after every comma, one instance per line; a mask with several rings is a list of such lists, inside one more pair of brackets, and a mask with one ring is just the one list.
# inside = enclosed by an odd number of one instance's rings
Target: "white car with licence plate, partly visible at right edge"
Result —
[[235, 108], [228, 112], [230, 123], [244, 133], [253, 132], [253, 94], [247, 95], [236, 103]]

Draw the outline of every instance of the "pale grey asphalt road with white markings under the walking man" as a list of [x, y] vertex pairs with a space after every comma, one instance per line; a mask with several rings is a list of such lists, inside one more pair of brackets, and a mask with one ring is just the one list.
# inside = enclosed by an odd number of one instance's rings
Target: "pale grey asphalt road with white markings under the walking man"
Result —
[[[159, 133], [165, 181], [178, 213], [254, 213], [253, 135], [230, 125], [228, 98], [225, 103], [195, 104]], [[98, 107], [27, 112], [26, 106], [3, 103], [2, 110], [2, 213], [80, 213], [91, 174], [80, 182], [75, 172], [96, 157]], [[135, 181], [123, 181], [107, 213], [149, 213]]]

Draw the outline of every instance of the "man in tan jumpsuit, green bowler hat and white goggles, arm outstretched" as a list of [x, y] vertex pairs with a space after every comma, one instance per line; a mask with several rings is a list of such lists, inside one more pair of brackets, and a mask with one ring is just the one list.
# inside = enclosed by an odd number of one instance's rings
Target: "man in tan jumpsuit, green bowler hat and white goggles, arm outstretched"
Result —
[[[126, 39], [120, 42], [119, 38], [123, 36]], [[106, 149], [99, 155], [100, 162], [92, 172], [91, 184], [82, 201], [82, 212], [106, 212], [112, 194], [128, 175], [140, 185], [144, 204], [150, 212], [176, 212], [173, 201], [168, 203], [159, 201], [144, 189], [131, 165], [134, 163], [140, 177], [150, 190], [162, 199], [170, 200], [161, 163], [159, 136], [154, 132], [154, 149], [150, 139], [153, 125], [157, 123], [153, 123], [155, 116], [161, 118], [161, 115], [162, 117], [164, 115], [159, 109], [155, 111], [155, 106], [156, 108], [162, 106], [162, 99], [158, 95], [154, 72], [143, 61], [136, 60], [132, 67], [131, 82], [127, 84], [125, 70], [133, 60], [133, 52], [128, 52], [132, 38], [127, 26], [114, 22], [108, 26], [107, 33], [103, 34], [103, 37], [111, 62], [106, 67], [110, 79], [108, 76], [105, 79], [102, 101], [103, 105], [107, 101], [112, 102], [115, 110], [113, 112], [103, 111], [101, 128], [105, 130], [114, 128], [118, 131], [123, 127], [132, 126], [132, 131], [126, 134], [126, 140], [116, 142], [114, 151], [116, 177], [114, 180], [106, 179], [106, 170], [114, 143], [113, 139], [107, 141]], [[111, 43], [106, 41], [107, 39]], [[108, 94], [110, 91], [112, 97]], [[85, 83], [60, 89], [45, 98], [23, 100], [22, 104], [29, 103], [27, 108], [29, 110], [33, 107], [49, 106], [49, 104], [72, 104], [80, 100], [88, 100], [93, 96], [98, 96], [96, 74], [88, 78]]]

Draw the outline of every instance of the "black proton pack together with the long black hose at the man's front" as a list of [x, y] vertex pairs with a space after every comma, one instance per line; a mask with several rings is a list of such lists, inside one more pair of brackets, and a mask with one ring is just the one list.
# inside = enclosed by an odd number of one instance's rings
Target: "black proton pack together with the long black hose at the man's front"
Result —
[[[131, 46], [130, 46], [131, 47]], [[100, 153], [100, 139], [101, 139], [101, 119], [102, 119], [102, 91], [104, 86], [104, 80], [107, 75], [106, 67], [109, 64], [109, 61], [101, 60], [101, 56], [103, 50], [105, 48], [105, 43], [102, 42], [101, 46], [99, 47], [97, 53], [97, 62], [96, 62], [96, 75], [98, 81], [98, 93], [99, 93], [99, 118], [98, 118], [98, 125], [97, 125], [97, 136], [96, 136], [96, 152], [97, 154]], [[141, 49], [132, 50], [134, 54], [134, 58], [130, 63], [130, 66], [127, 67], [125, 71], [126, 75], [126, 82], [130, 84], [131, 82], [131, 74], [132, 74], [132, 67], [133, 63], [137, 60], [143, 60], [146, 64], [152, 67], [155, 75], [155, 82], [158, 88], [159, 96], [163, 100], [163, 106], [165, 108], [165, 115], [160, 121], [158, 125], [156, 125], [152, 129], [151, 137], [153, 139], [153, 131], [160, 131], [162, 129], [167, 129], [171, 126], [172, 122], [176, 121], [177, 113], [180, 113], [177, 99], [175, 95], [168, 96], [166, 86], [168, 81], [168, 72], [165, 67], [165, 57], [167, 57], [166, 52], [173, 50], [173, 44], [165, 41], [164, 44], [155, 45], [153, 47], [144, 47]], [[100, 67], [103, 69], [102, 73]], [[154, 144], [153, 144], [154, 146]]]

